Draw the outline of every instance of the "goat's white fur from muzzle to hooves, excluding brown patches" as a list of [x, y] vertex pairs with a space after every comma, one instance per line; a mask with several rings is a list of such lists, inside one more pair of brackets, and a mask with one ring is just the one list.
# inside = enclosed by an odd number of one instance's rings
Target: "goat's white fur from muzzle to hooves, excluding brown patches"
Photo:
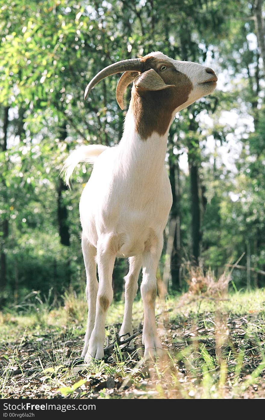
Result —
[[[175, 112], [210, 93], [199, 85], [207, 74], [203, 66], [172, 60], [158, 52], [151, 55], [174, 62], [193, 83], [188, 101]], [[162, 351], [156, 332], [155, 297], [163, 230], [172, 205], [170, 181], [164, 168], [168, 130], [169, 127], [162, 136], [154, 132], [148, 139], [140, 139], [130, 105], [124, 133], [117, 146], [100, 149], [85, 146], [66, 161], [69, 179], [79, 161], [94, 160], [93, 171], [80, 199], [82, 251], [87, 274], [88, 318], [82, 352], [86, 362], [103, 357], [105, 320], [113, 298], [111, 283], [116, 257], [129, 257], [130, 261], [130, 270], [125, 277], [125, 313], [120, 335], [133, 333], [133, 300], [143, 267], [140, 289], [144, 305], [144, 354], [154, 357]]]

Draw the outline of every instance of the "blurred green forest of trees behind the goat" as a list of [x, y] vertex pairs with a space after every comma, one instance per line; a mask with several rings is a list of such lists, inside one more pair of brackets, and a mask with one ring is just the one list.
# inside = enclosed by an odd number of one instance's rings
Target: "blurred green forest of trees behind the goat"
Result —
[[[69, 190], [61, 164], [75, 147], [113, 146], [122, 135], [119, 75], [84, 102], [88, 81], [114, 61], [155, 50], [219, 76], [215, 93], [170, 128], [173, 206], [160, 273], [170, 291], [181, 290], [187, 264], [218, 275], [244, 254], [234, 284], [264, 286], [262, 0], [13, 0], [1, 5], [0, 35], [2, 305], [32, 289], [59, 298], [69, 285], [83, 287], [78, 202], [91, 168], [80, 165]], [[117, 260], [117, 298], [126, 270]]]

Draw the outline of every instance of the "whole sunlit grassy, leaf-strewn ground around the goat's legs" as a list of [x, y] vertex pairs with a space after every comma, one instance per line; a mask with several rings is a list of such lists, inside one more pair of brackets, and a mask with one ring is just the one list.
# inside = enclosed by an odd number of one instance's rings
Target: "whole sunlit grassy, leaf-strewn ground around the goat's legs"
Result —
[[[194, 284], [193, 284], [194, 286]], [[32, 294], [31, 304], [0, 314], [2, 398], [240, 399], [265, 397], [265, 293], [231, 292], [227, 300], [185, 294], [157, 302], [164, 357], [114, 352], [92, 365], [80, 362], [86, 303], [74, 291], [55, 307]], [[17, 312], [15, 312], [17, 311]], [[136, 301], [135, 328], [143, 321]], [[123, 303], [111, 305], [106, 345], [122, 322]]]

